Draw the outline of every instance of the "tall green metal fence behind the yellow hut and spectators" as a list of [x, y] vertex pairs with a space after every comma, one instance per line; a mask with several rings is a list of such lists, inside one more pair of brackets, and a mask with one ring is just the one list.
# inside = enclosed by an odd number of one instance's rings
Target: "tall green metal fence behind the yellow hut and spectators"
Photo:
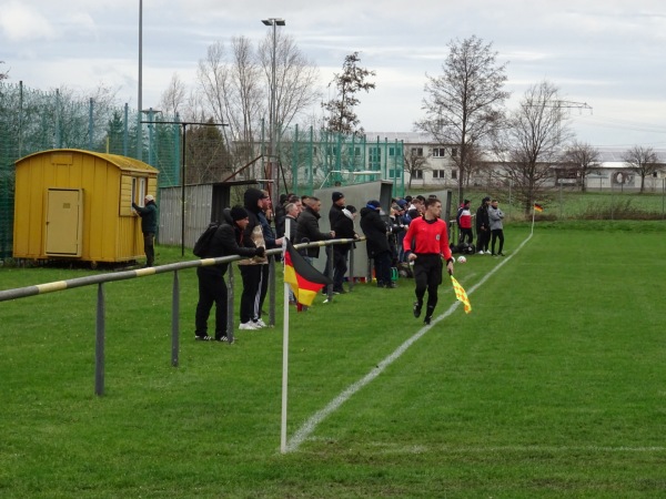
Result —
[[[160, 111], [139, 112], [67, 91], [1, 82], [0, 258], [12, 252], [14, 163], [21, 157], [50, 149], [120, 154], [157, 167], [159, 187], [182, 185], [182, 179], [185, 184], [223, 182], [236, 172], [242, 172], [240, 179], [266, 179], [266, 126], [261, 123], [259, 130], [256, 139], [242, 141], [239, 133], [212, 122], [186, 123]], [[282, 172], [278, 192], [312, 194], [336, 182], [344, 186], [390, 180], [393, 194], [404, 195], [402, 142], [314, 128], [278, 132]], [[253, 161], [258, 156], [261, 160]]]

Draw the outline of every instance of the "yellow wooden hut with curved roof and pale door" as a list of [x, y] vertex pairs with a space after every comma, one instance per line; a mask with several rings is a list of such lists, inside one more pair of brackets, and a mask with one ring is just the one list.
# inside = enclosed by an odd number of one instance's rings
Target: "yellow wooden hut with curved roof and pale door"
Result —
[[143, 256], [132, 202], [157, 196], [158, 170], [139, 160], [49, 150], [16, 163], [13, 257], [131, 262]]

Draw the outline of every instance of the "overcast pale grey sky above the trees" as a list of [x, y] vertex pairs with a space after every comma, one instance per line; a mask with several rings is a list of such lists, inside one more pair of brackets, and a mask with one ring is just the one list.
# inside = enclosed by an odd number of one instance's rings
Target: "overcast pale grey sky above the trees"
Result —
[[[357, 114], [367, 132], [411, 132], [424, 115], [426, 73], [442, 73], [451, 40], [475, 34], [508, 62], [509, 106], [544, 79], [572, 109], [577, 139], [596, 146], [666, 147], [666, 2], [663, 0], [144, 0], [143, 108], [171, 77], [193, 85], [216, 41], [259, 42], [265, 18], [320, 68], [322, 91], [345, 55], [376, 71]], [[0, 71], [10, 83], [119, 88], [138, 101], [139, 0], [0, 0]]]

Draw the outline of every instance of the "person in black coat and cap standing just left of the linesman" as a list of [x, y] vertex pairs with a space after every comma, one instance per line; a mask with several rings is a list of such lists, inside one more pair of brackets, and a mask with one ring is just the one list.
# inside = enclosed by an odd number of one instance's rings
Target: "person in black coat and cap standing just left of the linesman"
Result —
[[380, 215], [381, 204], [376, 200], [367, 202], [361, 208], [361, 230], [365, 234], [367, 257], [374, 261], [377, 287], [396, 287], [391, 279], [391, 248], [389, 246], [389, 226]]

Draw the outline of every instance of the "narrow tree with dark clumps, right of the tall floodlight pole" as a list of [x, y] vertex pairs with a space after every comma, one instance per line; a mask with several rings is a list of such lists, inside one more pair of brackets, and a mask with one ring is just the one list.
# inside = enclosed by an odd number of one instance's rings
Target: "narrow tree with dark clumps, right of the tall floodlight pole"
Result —
[[375, 88], [373, 82], [367, 81], [367, 78], [374, 77], [374, 71], [369, 71], [365, 68], [359, 68], [361, 58], [359, 52], [351, 53], [344, 58], [342, 64], [342, 73], [335, 73], [333, 81], [329, 83], [335, 86], [336, 95], [329, 102], [322, 103], [322, 108], [329, 112], [326, 120], [326, 130], [330, 132], [351, 134], [363, 134], [363, 128], [357, 128], [360, 120], [354, 108], [361, 102], [356, 96], [359, 92]]

